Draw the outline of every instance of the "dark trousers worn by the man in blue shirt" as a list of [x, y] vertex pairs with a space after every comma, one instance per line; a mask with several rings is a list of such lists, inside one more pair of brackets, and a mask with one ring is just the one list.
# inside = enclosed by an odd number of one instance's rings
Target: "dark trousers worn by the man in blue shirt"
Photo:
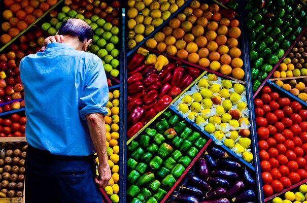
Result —
[[51, 155], [28, 147], [25, 160], [26, 203], [101, 203], [94, 157]]

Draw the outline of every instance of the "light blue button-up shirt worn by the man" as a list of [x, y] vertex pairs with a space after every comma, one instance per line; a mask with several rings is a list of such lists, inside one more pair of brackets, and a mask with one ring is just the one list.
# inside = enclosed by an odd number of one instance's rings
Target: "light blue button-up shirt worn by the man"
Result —
[[109, 90], [101, 59], [50, 43], [20, 62], [25, 93], [26, 139], [51, 154], [87, 156], [95, 152], [86, 115], [107, 114]]

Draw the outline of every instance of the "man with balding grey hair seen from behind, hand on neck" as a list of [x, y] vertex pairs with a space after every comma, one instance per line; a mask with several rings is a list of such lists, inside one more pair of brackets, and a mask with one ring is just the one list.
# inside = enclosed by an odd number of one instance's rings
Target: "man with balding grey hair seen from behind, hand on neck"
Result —
[[[101, 59], [86, 52], [93, 37], [87, 23], [69, 19], [58, 34], [47, 39], [52, 43], [44, 52], [20, 62], [29, 144], [25, 200], [101, 203], [96, 184], [105, 187], [111, 179], [103, 117], [106, 74]], [[99, 179], [94, 178], [95, 151]]]

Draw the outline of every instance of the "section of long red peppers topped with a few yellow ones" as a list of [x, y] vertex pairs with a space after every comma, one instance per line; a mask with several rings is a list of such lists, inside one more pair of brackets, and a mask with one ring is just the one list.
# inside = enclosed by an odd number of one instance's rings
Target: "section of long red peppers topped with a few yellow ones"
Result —
[[199, 69], [185, 67], [181, 62], [168, 62], [140, 48], [128, 66], [128, 138], [137, 133], [157, 113], [190, 85], [200, 74]]

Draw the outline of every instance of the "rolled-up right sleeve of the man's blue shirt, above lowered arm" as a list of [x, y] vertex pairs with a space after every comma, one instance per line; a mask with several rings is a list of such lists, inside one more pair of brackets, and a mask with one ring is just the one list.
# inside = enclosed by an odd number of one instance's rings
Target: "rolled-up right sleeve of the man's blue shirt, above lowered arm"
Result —
[[109, 88], [103, 63], [99, 60], [89, 70], [86, 87], [80, 98], [79, 114], [85, 120], [87, 114], [108, 114]]

